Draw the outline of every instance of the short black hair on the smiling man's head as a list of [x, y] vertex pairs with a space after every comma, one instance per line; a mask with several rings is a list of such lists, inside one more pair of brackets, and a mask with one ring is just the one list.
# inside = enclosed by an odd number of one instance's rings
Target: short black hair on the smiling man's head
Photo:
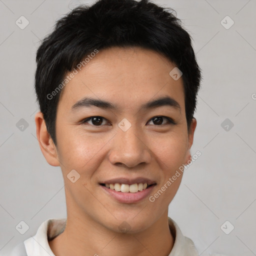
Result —
[[53, 31], [37, 49], [34, 85], [47, 131], [55, 145], [60, 95], [56, 88], [62, 89], [65, 75], [87, 54], [113, 46], [152, 49], [181, 70], [189, 129], [196, 109], [201, 69], [191, 37], [173, 11], [148, 0], [97, 0], [91, 6], [75, 7], [56, 21]]

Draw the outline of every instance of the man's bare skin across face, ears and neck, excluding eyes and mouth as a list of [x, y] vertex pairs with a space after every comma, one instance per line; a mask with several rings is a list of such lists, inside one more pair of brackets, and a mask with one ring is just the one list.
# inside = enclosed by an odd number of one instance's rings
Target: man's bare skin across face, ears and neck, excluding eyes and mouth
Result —
[[[122, 176], [148, 177], [157, 183], [153, 195], [191, 159], [196, 120], [193, 118], [188, 132], [182, 78], [174, 80], [169, 75], [174, 66], [161, 54], [140, 47], [100, 50], [61, 91], [57, 146], [42, 113], [36, 113], [41, 151], [50, 165], [61, 167], [65, 183], [66, 227], [49, 242], [56, 256], [170, 253], [174, 239], [168, 227], [168, 205], [182, 175], [154, 202], [148, 197], [137, 203], [117, 202], [98, 182]], [[179, 103], [180, 111], [168, 106], [139, 110], [146, 101], [166, 95]], [[72, 112], [71, 106], [84, 96], [109, 101], [119, 109], [93, 106]], [[157, 125], [152, 117], [158, 115], [172, 118], [176, 124], [163, 117]], [[81, 123], [90, 116], [103, 117], [101, 126], [91, 120]], [[118, 127], [123, 118], [131, 123], [125, 132]], [[75, 183], [67, 178], [72, 169], [80, 174]], [[123, 221], [130, 226], [126, 233], [118, 228]]]

